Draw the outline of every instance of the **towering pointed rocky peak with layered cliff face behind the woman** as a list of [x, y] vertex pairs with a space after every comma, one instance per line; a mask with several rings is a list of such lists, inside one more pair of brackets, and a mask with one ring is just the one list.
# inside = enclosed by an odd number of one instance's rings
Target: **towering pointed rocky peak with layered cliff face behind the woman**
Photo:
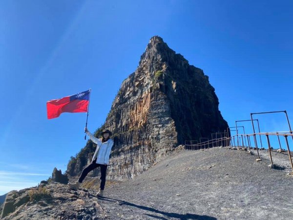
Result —
[[[135, 72], [121, 85], [102, 129], [113, 132], [108, 179], [139, 175], [185, 140], [228, 127], [208, 76], [160, 37], [152, 37]], [[80, 175], [95, 146], [72, 158], [66, 173]], [[92, 175], [97, 175], [98, 170]]]

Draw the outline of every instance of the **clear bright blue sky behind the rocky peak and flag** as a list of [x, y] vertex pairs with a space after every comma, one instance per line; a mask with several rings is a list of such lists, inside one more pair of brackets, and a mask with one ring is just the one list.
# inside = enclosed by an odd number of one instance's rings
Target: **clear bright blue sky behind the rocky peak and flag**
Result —
[[[85, 145], [86, 114], [47, 120], [46, 101], [91, 88], [93, 132], [154, 35], [204, 70], [231, 127], [259, 111], [293, 123], [292, 11], [291, 0], [1, 0], [0, 195], [64, 172]], [[289, 130], [282, 113], [255, 118]]]

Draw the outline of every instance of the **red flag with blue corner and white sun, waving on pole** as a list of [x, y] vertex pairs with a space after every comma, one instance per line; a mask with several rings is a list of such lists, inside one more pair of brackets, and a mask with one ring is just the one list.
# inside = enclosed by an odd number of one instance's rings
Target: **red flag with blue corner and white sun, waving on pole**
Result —
[[63, 112], [87, 112], [89, 95], [90, 89], [61, 99], [47, 101], [48, 119], [57, 118]]

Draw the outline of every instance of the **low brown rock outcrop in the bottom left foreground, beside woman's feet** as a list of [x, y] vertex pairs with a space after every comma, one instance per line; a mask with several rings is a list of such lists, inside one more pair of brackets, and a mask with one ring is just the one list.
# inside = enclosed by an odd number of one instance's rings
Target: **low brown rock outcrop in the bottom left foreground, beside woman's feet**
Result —
[[97, 202], [95, 191], [74, 191], [67, 185], [54, 182], [8, 193], [3, 220], [98, 220], [106, 219], [105, 211]]

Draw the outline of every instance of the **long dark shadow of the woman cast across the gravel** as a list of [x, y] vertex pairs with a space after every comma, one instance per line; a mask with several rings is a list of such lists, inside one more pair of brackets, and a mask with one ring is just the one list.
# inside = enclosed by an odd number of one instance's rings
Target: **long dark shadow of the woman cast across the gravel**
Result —
[[[146, 210], [146, 211], [155, 212], [155, 213], [164, 215], [164, 216], [166, 216], [168, 218], [177, 218], [177, 219], [180, 219], [180, 220], [217, 220], [216, 218], [210, 217], [210, 216], [200, 216], [200, 215], [189, 214], [189, 213], [187, 213], [187, 214], [178, 214], [178, 213], [172, 213], [172, 212], [163, 212], [163, 211], [159, 211], [159, 210], [154, 209], [154, 208], [146, 207], [146, 206], [143, 206], [143, 205], [136, 205], [136, 204], [126, 202], [126, 201], [122, 201], [122, 200], [119, 200], [119, 199], [116, 199], [116, 198], [99, 197], [99, 199], [105, 200], [105, 201], [111, 201], [111, 202], [118, 201], [122, 205], [129, 205], [129, 206], [133, 206], [133, 207], [143, 209], [143, 210]], [[160, 217], [160, 216], [155, 216], [155, 215], [150, 215], [150, 214], [145, 214], [145, 215], [147, 215], [149, 217], [152, 217], [154, 219], [167, 220], [166, 218]]]

